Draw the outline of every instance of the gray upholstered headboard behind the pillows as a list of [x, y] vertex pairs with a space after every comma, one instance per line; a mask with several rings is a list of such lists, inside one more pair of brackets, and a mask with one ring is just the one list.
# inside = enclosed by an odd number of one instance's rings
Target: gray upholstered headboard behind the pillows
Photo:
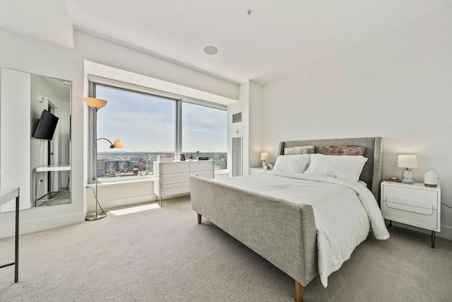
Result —
[[314, 146], [316, 153], [321, 153], [323, 146], [364, 146], [366, 151], [364, 157], [368, 158], [362, 168], [360, 180], [367, 183], [367, 187], [374, 194], [375, 199], [380, 203], [380, 182], [381, 182], [381, 137], [359, 137], [352, 139], [314, 139], [307, 141], [281, 141], [278, 155], [284, 154], [285, 147], [293, 146]]

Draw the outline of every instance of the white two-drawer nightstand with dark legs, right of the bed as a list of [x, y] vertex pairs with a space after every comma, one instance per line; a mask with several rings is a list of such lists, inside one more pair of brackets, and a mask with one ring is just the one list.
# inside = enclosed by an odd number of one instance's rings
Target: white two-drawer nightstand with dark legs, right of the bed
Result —
[[441, 187], [427, 187], [415, 182], [381, 182], [381, 213], [390, 222], [396, 221], [435, 232], [441, 231]]

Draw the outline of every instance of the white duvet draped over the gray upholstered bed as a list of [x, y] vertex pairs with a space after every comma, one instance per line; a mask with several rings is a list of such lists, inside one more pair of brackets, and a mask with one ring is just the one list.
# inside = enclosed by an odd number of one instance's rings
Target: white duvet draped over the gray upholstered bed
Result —
[[276, 171], [220, 181], [290, 202], [311, 204], [316, 221], [319, 275], [325, 287], [328, 276], [350, 258], [357, 245], [367, 238], [370, 228], [376, 239], [389, 238], [374, 195], [358, 182]]

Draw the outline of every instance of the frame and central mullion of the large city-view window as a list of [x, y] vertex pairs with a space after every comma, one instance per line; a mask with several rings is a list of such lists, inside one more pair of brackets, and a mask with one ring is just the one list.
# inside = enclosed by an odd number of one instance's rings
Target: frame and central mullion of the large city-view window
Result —
[[[159, 91], [157, 89], [148, 88], [144, 86], [138, 86], [131, 83], [125, 83], [112, 79], [102, 78], [100, 76], [88, 75], [88, 96], [90, 98], [96, 97], [96, 86], [103, 86], [112, 89], [118, 89], [122, 91], [128, 91], [130, 93], [141, 93], [156, 98], [165, 98], [167, 100], [174, 100], [175, 103], [175, 139], [174, 139], [174, 158], [179, 158], [182, 153], [182, 103], [191, 103], [195, 105], [202, 105], [209, 108], [227, 111], [226, 105], [209, 102], [207, 100], [199, 100], [196, 98], [190, 98], [183, 95], [177, 95], [175, 93], [169, 93], [165, 91]], [[97, 177], [95, 171], [95, 165], [97, 157], [95, 156], [95, 142], [94, 138], [97, 134], [97, 119], [94, 110], [88, 110], [88, 184], [94, 184]], [[227, 152], [227, 150], [226, 150]], [[223, 170], [218, 170], [223, 171]], [[129, 176], [124, 178], [107, 178], [97, 179], [98, 183], [111, 183], [111, 182], [129, 182], [136, 180], [153, 179], [153, 175], [148, 176]]]

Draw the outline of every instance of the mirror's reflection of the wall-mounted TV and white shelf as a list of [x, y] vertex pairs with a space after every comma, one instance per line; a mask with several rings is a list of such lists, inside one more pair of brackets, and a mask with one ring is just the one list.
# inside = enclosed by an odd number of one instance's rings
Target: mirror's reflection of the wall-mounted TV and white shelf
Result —
[[71, 82], [31, 75], [31, 207], [71, 202]]

